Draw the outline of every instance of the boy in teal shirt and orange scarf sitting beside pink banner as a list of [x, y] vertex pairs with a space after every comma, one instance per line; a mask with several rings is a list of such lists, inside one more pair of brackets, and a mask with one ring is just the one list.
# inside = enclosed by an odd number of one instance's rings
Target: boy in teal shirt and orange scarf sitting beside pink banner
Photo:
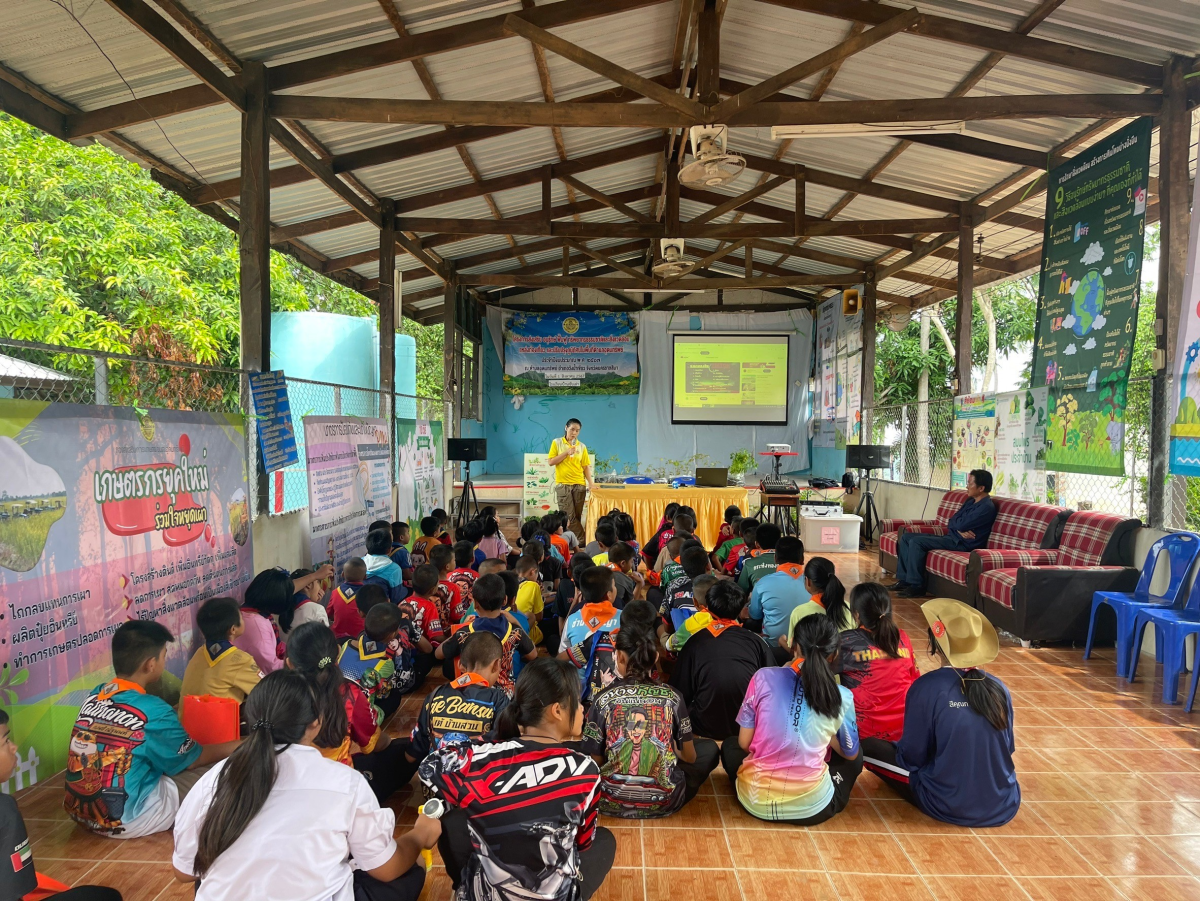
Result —
[[240, 743], [202, 747], [167, 702], [148, 693], [167, 672], [173, 641], [154, 620], [122, 623], [113, 632], [115, 675], [92, 689], [79, 708], [62, 807], [97, 835], [140, 839], [169, 830], [180, 800], [204, 770]]

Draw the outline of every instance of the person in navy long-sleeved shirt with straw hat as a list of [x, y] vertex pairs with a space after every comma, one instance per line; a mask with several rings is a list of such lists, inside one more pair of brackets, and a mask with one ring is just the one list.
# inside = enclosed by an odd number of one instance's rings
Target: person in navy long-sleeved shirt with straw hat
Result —
[[908, 689], [899, 743], [863, 741], [866, 767], [901, 798], [946, 823], [1003, 825], [1021, 806], [1013, 765], [1013, 699], [979, 667], [1000, 639], [979, 611], [948, 597], [920, 607], [942, 667]]

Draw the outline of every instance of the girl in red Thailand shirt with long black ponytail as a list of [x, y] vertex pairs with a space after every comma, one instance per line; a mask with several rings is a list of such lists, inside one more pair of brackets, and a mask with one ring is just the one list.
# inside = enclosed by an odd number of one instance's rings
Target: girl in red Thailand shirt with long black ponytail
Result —
[[857, 629], [841, 633], [834, 672], [854, 695], [858, 737], [898, 741], [908, 686], [920, 672], [908, 636], [892, 619], [892, 596], [878, 582], [850, 591]]

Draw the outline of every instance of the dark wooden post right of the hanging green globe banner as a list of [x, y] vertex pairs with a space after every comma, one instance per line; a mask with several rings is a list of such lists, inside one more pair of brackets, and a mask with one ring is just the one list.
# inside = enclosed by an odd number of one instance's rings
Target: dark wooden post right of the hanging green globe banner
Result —
[[1158, 295], [1154, 299], [1157, 358], [1150, 394], [1150, 471], [1146, 480], [1146, 505], [1150, 525], [1163, 529], [1166, 515], [1168, 448], [1170, 428], [1170, 374], [1175, 355], [1175, 335], [1180, 326], [1183, 278], [1188, 259], [1188, 134], [1190, 114], [1187, 84], [1183, 80], [1187, 60], [1172, 56], [1163, 72], [1163, 115], [1158, 130], [1158, 204], [1160, 238], [1158, 251]]

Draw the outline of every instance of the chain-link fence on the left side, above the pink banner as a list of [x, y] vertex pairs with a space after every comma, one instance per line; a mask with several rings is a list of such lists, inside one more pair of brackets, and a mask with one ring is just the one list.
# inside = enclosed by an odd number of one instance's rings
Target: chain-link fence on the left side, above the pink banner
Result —
[[[185, 360], [0, 338], [0, 398], [244, 414], [247, 482], [254, 485], [262, 461], [248, 377], [246, 370]], [[300, 462], [270, 474], [268, 507], [256, 515], [292, 512], [308, 505], [305, 416], [374, 419], [380, 414], [386, 416], [390, 406], [397, 424], [418, 419], [449, 422], [448, 406], [439, 398], [397, 394], [391, 404], [384, 403], [380, 410], [382, 392], [376, 389], [294, 378], [288, 378], [287, 383]]]

